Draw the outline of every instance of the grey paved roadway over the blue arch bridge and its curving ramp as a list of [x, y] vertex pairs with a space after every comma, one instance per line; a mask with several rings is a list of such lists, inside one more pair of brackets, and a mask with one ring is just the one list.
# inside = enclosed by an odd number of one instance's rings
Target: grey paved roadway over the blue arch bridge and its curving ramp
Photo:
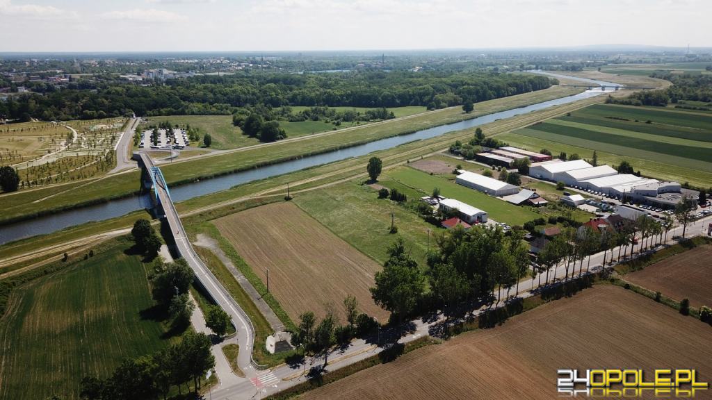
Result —
[[[149, 171], [152, 167], [154, 167], [153, 161], [148, 154], [142, 153], [141, 159]], [[256, 377], [258, 366], [252, 360], [254, 329], [251, 321], [245, 314], [244, 310], [241, 309], [223, 285], [221, 285], [215, 275], [213, 275], [209, 268], [207, 268], [202, 262], [197, 253], [195, 253], [193, 246], [185, 233], [183, 224], [178, 217], [175, 206], [170, 199], [166, 188], [162, 186], [160, 181], [157, 181], [155, 191], [159, 196], [159, 201], [162, 205], [165, 219], [168, 222], [169, 228], [173, 234], [178, 253], [187, 261], [188, 265], [190, 265], [193, 269], [196, 278], [215, 300], [217, 305], [219, 305], [230, 315], [231, 320], [237, 329], [237, 340], [240, 346], [237, 362], [240, 369], [242, 369], [246, 377]]]

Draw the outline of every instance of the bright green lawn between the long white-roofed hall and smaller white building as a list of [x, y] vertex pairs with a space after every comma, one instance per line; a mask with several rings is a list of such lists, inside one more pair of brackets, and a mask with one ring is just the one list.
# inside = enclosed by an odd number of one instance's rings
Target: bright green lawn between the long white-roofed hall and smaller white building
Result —
[[532, 211], [509, 204], [481, 191], [456, 184], [454, 175], [452, 176], [453, 180], [449, 180], [426, 174], [417, 169], [402, 167], [386, 172], [382, 177], [382, 180], [385, 179], [392, 179], [411, 188], [419, 189], [422, 193], [421, 196], [430, 194], [433, 188], [437, 187], [440, 189], [441, 196], [450, 197], [487, 211], [488, 216], [497, 222], [523, 225], [526, 221], [538, 218], [538, 214]]

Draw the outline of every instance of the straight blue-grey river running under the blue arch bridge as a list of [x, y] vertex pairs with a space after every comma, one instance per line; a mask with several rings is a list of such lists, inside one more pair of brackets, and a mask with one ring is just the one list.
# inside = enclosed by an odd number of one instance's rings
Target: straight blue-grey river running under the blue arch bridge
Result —
[[[562, 77], [562, 75], [557, 74], [543, 74]], [[577, 78], [577, 80], [582, 80], [588, 83], [596, 83], [598, 85], [606, 86], [607, 88], [620, 86], [616, 83], [588, 80], [585, 78]], [[609, 91], [610, 90], [606, 90], [606, 92]], [[197, 196], [204, 196], [206, 194], [215, 193], [216, 191], [230, 189], [233, 186], [239, 184], [246, 184], [248, 182], [256, 181], [258, 179], [275, 177], [277, 175], [299, 171], [300, 169], [315, 167], [318, 165], [328, 164], [330, 162], [336, 162], [352, 157], [360, 157], [371, 152], [390, 149], [400, 144], [414, 142], [416, 140], [429, 139], [431, 137], [444, 135], [449, 132], [477, 127], [478, 125], [487, 124], [489, 122], [494, 122], [496, 120], [501, 120], [504, 118], [514, 117], [515, 115], [522, 115], [528, 112], [542, 110], [543, 108], [551, 107], [553, 105], [562, 105], [567, 104], [569, 102], [575, 102], [577, 100], [592, 98], [597, 95], [602, 95], [603, 93], [604, 91], [600, 88], [587, 90], [577, 95], [567, 96], [565, 98], [557, 98], [555, 100], [548, 100], [545, 102], [539, 102], [533, 105], [528, 105], [526, 107], [515, 108], [513, 110], [494, 112], [493, 114], [482, 115], [481, 117], [476, 117], [471, 120], [455, 122], [447, 125], [440, 125], [438, 127], [432, 127], [426, 130], [419, 130], [408, 135], [389, 137], [387, 139], [376, 140], [375, 142], [360, 144], [358, 146], [335, 150], [333, 152], [327, 152], [324, 154], [317, 154], [309, 157], [303, 157], [300, 159], [294, 159], [292, 161], [281, 162], [279, 164], [273, 164], [267, 167], [261, 167], [257, 169], [248, 169], [243, 172], [235, 172], [234, 174], [223, 175], [221, 177], [215, 177], [212, 179], [205, 179], [190, 184], [184, 184], [182, 186], [175, 186], [171, 188], [171, 197], [173, 201], [176, 202], [184, 201]], [[42, 216], [37, 219], [11, 223], [9, 225], [0, 226], [0, 244], [8, 243], [10, 241], [16, 241], [21, 238], [27, 238], [29, 236], [56, 232], [63, 228], [79, 225], [80, 223], [87, 223], [90, 221], [103, 221], [105, 219], [115, 218], [117, 216], [122, 216], [132, 211], [145, 209], [150, 206], [152, 206], [152, 204], [148, 195], [132, 196], [126, 199], [108, 201], [107, 203], [97, 204], [95, 206], [86, 206], [80, 209], [61, 211], [56, 214]]]

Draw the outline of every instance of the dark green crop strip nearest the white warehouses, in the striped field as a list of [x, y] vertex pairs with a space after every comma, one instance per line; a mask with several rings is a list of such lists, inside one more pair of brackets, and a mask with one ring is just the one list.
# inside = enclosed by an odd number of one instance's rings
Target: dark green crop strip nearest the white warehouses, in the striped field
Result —
[[[647, 142], [636, 138], [619, 137], [617, 135], [591, 134], [583, 130], [573, 130], [567, 127], [557, 127], [556, 125], [534, 125], [513, 132], [515, 135], [536, 137], [550, 142], [560, 142], [572, 144], [578, 147], [585, 147], [590, 150], [600, 150], [621, 156], [631, 156], [653, 161], [664, 160], [666, 164], [679, 165], [690, 169], [701, 169], [705, 172], [712, 172], [712, 162], [703, 160], [709, 159], [706, 149], [689, 149], [689, 156], [685, 157], [684, 149], [675, 147], [672, 144], [656, 145], [655, 142]], [[659, 152], [656, 150], [668, 150]], [[688, 148], [685, 148], [688, 149]], [[679, 155], [671, 154], [676, 152]]]

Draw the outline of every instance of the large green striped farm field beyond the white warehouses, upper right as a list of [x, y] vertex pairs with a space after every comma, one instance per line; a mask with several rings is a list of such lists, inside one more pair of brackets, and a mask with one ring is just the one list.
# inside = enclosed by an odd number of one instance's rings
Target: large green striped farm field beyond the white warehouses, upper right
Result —
[[[650, 123], [648, 123], [650, 121]], [[577, 152], [597, 150], [607, 164], [622, 157], [651, 177], [712, 183], [712, 115], [661, 107], [594, 105], [515, 130], [501, 139], [510, 144]]]

